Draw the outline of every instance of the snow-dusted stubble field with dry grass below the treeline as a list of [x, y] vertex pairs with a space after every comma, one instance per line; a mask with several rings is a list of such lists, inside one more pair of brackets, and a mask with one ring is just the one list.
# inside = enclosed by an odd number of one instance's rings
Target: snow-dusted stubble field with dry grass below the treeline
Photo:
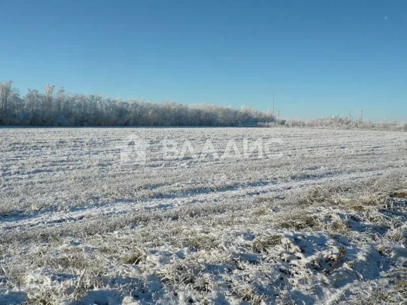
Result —
[[[174, 141], [198, 158], [164, 158]], [[0, 128], [0, 304], [406, 302], [406, 151], [405, 132]]]

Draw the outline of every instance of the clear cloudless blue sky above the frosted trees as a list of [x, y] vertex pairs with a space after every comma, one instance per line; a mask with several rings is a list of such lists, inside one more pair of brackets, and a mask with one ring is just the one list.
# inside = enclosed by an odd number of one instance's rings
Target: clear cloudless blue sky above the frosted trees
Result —
[[2, 1], [0, 80], [407, 119], [407, 1]]

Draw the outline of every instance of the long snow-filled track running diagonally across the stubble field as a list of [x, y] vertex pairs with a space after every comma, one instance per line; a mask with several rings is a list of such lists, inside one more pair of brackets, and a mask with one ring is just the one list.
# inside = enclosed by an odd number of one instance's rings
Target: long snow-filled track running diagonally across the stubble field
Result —
[[182, 195], [173, 195], [172, 198], [153, 198], [139, 201], [115, 201], [105, 205], [95, 205], [92, 207], [79, 208], [73, 211], [47, 211], [35, 216], [28, 217], [10, 217], [0, 221], [0, 230], [11, 230], [24, 227], [50, 227], [57, 226], [66, 222], [78, 222], [88, 218], [100, 216], [112, 216], [127, 214], [140, 209], [143, 210], [168, 210], [170, 208], [180, 207], [187, 204], [199, 204], [208, 201], [222, 201], [234, 197], [253, 198], [258, 195], [278, 194], [286, 190], [298, 190], [323, 184], [335, 178], [335, 180], [348, 181], [363, 179], [374, 175], [382, 175], [384, 170], [369, 170], [355, 173], [338, 173], [324, 175], [320, 177], [301, 177], [298, 179], [284, 179], [280, 182], [266, 182], [257, 186], [233, 187], [213, 192], [188, 192]]

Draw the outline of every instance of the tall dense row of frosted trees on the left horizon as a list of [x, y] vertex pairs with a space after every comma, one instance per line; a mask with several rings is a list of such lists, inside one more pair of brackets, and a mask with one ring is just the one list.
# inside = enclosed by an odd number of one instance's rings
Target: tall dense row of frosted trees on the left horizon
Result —
[[0, 124], [23, 126], [257, 126], [275, 121], [272, 112], [212, 104], [109, 99], [66, 93], [53, 85], [25, 96], [0, 82]]

